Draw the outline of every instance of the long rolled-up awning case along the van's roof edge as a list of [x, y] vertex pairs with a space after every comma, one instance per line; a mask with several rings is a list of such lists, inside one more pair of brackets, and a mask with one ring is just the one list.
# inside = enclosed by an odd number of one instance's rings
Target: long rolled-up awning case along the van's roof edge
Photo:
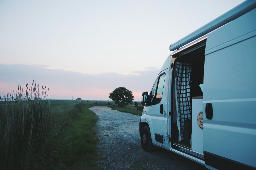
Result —
[[243, 3], [239, 4], [238, 6], [234, 7], [233, 9], [229, 10], [225, 14], [219, 16], [218, 18], [212, 20], [208, 24], [202, 26], [201, 28], [197, 29], [196, 31], [188, 34], [187, 36], [183, 37], [179, 41], [170, 45], [170, 51], [174, 51], [206, 34], [215, 29], [229, 23], [230, 21], [242, 16], [243, 14], [251, 11], [252, 9], [256, 8], [256, 0], [247, 0]]

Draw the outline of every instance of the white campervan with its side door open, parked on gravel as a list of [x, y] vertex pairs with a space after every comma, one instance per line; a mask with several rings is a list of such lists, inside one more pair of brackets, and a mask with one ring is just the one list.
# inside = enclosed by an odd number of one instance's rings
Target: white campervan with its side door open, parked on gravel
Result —
[[163, 147], [209, 169], [256, 169], [256, 1], [170, 45], [142, 94], [145, 151]]

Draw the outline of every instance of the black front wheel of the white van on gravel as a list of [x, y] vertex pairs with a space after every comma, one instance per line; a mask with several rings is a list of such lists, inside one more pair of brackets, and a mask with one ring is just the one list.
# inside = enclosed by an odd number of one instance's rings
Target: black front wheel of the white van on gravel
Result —
[[152, 143], [150, 129], [148, 126], [144, 126], [141, 130], [141, 146], [144, 151], [153, 151], [154, 145]]

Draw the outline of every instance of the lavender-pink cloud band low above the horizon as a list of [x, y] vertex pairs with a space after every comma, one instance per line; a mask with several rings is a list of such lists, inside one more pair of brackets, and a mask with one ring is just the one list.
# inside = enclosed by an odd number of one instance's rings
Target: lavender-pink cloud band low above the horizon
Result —
[[51, 98], [82, 98], [88, 100], [109, 100], [109, 93], [123, 86], [132, 90], [134, 99], [140, 100], [144, 91], [149, 91], [155, 81], [159, 69], [151, 68], [134, 74], [103, 73], [86, 74], [62, 69], [47, 69], [45, 66], [29, 66], [21, 64], [0, 64], [0, 95], [8, 91], [16, 91], [18, 83], [46, 84]]

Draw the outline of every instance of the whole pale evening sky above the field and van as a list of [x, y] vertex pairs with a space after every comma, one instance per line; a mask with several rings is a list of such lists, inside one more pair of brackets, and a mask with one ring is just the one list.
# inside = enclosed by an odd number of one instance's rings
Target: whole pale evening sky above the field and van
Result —
[[0, 0], [0, 95], [35, 80], [51, 99], [134, 100], [150, 91], [170, 44], [243, 0]]

